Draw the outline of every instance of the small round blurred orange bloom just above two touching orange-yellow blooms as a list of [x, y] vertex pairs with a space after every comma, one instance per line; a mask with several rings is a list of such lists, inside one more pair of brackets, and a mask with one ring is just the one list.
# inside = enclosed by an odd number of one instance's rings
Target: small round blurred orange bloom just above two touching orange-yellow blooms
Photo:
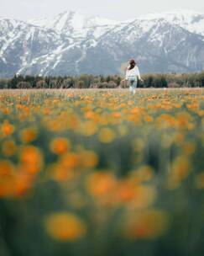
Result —
[[55, 154], [60, 155], [71, 149], [71, 142], [63, 137], [55, 138], [50, 143], [50, 149]]

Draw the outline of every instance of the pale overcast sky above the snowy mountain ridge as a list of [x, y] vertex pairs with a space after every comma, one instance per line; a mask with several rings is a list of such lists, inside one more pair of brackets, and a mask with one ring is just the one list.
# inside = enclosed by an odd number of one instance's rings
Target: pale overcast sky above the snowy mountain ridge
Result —
[[0, 16], [14, 19], [51, 18], [65, 10], [108, 19], [132, 19], [139, 14], [175, 9], [204, 13], [203, 0], [0, 0]]

